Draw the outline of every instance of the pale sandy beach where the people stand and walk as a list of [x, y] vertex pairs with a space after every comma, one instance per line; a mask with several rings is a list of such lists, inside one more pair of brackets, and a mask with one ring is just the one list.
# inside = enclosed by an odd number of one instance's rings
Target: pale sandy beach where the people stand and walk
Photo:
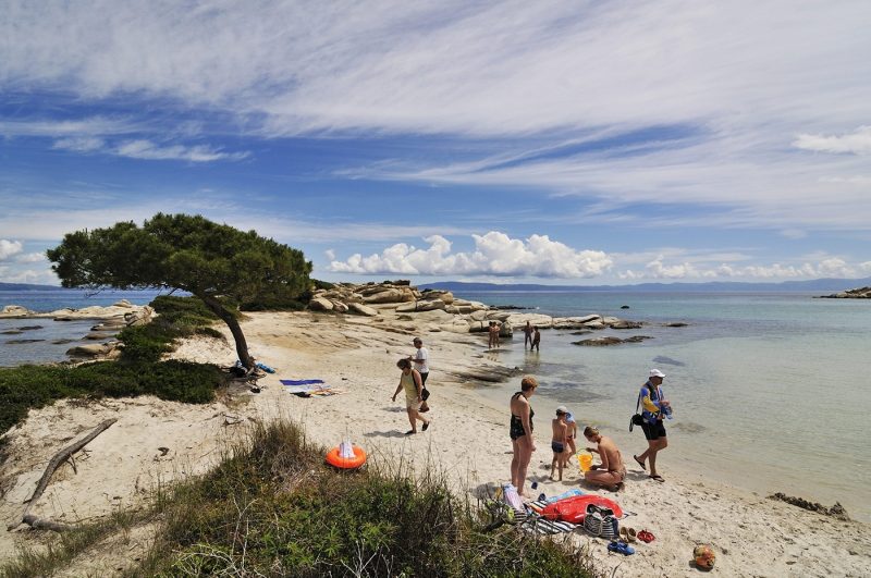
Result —
[[[508, 395], [519, 384], [512, 378], [504, 403], [479, 394], [481, 386], [455, 373], [492, 364], [479, 353], [486, 336], [432, 332], [426, 322], [382, 317], [299, 313], [250, 313], [244, 322], [248, 344], [259, 360], [279, 369], [260, 381], [260, 394], [244, 389], [224, 392], [206, 406], [162, 402], [154, 397], [106, 399], [88, 404], [64, 401], [32, 411], [10, 433], [10, 458], [0, 469], [0, 514], [5, 525], [21, 516], [26, 500], [48, 459], [73, 438], [84, 435], [108, 418], [118, 422], [76, 458], [77, 474], [63, 465], [32, 513], [75, 522], [105, 516], [119, 507], [137, 507], [158, 483], [207, 470], [229, 443], [243, 438], [250, 420], [292, 419], [302, 423], [319, 444], [335, 445], [351, 438], [376, 460], [402, 456], [417, 469], [437, 467], [458, 492], [476, 493], [484, 484], [508, 480]], [[391, 402], [398, 381], [396, 360], [414, 352], [412, 335], [424, 337], [430, 351], [428, 385], [432, 427], [406, 436], [402, 395]], [[228, 332], [229, 335], [229, 332]], [[174, 357], [230, 365], [232, 341], [196, 340], [184, 343]], [[318, 378], [345, 393], [300, 398], [287, 394], [279, 379]], [[540, 492], [555, 495], [569, 488], [598, 491], [579, 482], [573, 462], [563, 482], [547, 479], [551, 460], [548, 420], [553, 407], [537, 405], [538, 452], [530, 480]], [[573, 408], [582, 414], [582, 407]], [[231, 416], [231, 417], [228, 417]], [[240, 423], [229, 425], [237, 421]], [[579, 441], [582, 447], [582, 440]], [[160, 448], [167, 448], [162, 451]], [[165, 453], [165, 455], [163, 455]], [[655, 534], [651, 544], [636, 543], [637, 553], [624, 557], [606, 551], [603, 540], [582, 533], [572, 539], [588, 544], [603, 574], [615, 576], [692, 576], [697, 544], [711, 544], [717, 555], [713, 573], [722, 576], [868, 576], [871, 531], [860, 522], [845, 522], [807, 512], [764, 495], [726, 487], [701, 476], [667, 470], [665, 483], [648, 480], [623, 448], [629, 475], [614, 497], [637, 513], [624, 524]], [[20, 527], [2, 532], [0, 557], [28, 543], [35, 532]], [[111, 574], [130, 564], [148, 545], [148, 531], [134, 532], [121, 548], [94, 556], [87, 566]], [[557, 534], [560, 538], [560, 534]], [[122, 555], [123, 554], [123, 555]], [[82, 569], [79, 568], [79, 569]], [[73, 571], [75, 574], [75, 571]]]

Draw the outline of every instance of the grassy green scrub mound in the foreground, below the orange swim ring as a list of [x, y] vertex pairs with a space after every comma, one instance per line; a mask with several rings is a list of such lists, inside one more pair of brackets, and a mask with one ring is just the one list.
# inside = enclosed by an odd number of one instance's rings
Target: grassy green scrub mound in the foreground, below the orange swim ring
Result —
[[140, 576], [588, 576], [551, 540], [486, 532], [443, 479], [334, 471], [293, 425], [253, 434], [161, 502]]

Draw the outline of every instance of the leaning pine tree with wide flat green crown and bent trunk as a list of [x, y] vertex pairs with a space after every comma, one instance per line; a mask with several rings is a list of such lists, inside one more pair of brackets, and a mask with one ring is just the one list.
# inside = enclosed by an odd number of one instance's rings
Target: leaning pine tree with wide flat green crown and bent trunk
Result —
[[[121, 222], [76, 231], [46, 251], [64, 287], [176, 288], [228, 324], [238, 358], [250, 367], [238, 305], [295, 307], [309, 291], [303, 251], [201, 216], [157, 213], [142, 226]], [[133, 355], [160, 355], [152, 335], [128, 336]]]

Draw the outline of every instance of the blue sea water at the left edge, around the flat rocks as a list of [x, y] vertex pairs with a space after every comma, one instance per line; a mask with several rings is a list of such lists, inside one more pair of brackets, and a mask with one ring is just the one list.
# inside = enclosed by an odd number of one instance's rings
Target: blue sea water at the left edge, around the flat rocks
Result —
[[[105, 307], [121, 299], [146, 305], [158, 294], [156, 291], [105, 291], [96, 295], [77, 290], [0, 291], [0, 309], [7, 305], [21, 305], [32, 311], [45, 312], [65, 307]], [[93, 319], [0, 319], [0, 367], [64, 360], [66, 349], [85, 343], [83, 337], [95, 323]], [[12, 333], [17, 331], [21, 333]], [[16, 343], [23, 340], [36, 341]]]

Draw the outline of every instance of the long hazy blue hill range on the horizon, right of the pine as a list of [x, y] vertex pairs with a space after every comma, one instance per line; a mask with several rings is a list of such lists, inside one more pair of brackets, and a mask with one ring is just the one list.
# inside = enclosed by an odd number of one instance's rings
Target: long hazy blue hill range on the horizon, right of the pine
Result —
[[810, 281], [784, 281], [782, 283], [739, 283], [711, 281], [708, 283], [640, 283], [638, 285], [541, 285], [535, 283], [466, 283], [443, 281], [426, 283], [420, 288], [440, 288], [453, 292], [572, 292], [613, 291], [623, 293], [817, 293], [841, 292], [871, 285], [866, 279], [814, 279]]

